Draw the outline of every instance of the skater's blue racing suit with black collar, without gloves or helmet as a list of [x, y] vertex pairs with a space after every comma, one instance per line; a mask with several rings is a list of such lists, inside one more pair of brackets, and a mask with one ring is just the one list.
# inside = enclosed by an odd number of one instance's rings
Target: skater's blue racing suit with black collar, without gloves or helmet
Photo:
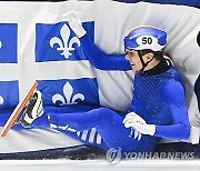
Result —
[[[86, 34], [80, 38], [83, 52], [100, 70], [131, 70], [124, 56], [104, 54]], [[167, 60], [161, 60], [153, 69], [137, 73], [133, 82], [133, 99], [124, 114], [99, 108], [80, 113], [48, 113], [49, 122], [77, 131], [97, 129], [104, 150], [119, 147], [129, 152], [151, 152], [161, 138], [186, 140], [190, 135], [190, 123], [184, 101], [184, 86], [181, 74]], [[141, 139], [130, 137], [130, 128], [122, 120], [129, 112], [136, 112], [149, 124], [156, 124], [154, 135], [142, 134]], [[34, 121], [33, 125], [37, 124]], [[67, 133], [67, 131], [63, 131]], [[97, 145], [97, 144], [94, 144]]]

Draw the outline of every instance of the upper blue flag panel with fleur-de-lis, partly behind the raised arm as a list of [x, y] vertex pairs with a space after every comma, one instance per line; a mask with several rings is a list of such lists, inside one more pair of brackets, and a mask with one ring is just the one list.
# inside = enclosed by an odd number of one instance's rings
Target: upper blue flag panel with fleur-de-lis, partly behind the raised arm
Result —
[[[93, 40], [94, 22], [83, 23]], [[37, 23], [36, 61], [86, 60], [79, 39], [67, 22], [56, 24]]]

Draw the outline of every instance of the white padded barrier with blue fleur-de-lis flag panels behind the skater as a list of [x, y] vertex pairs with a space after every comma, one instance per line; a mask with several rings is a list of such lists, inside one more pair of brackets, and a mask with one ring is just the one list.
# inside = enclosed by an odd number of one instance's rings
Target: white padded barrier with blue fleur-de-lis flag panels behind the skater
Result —
[[[192, 125], [199, 127], [199, 1], [126, 2], [0, 2], [3, 7], [0, 11], [0, 125], [3, 125], [33, 80], [40, 83], [39, 90], [42, 91], [46, 108], [53, 109], [54, 112], [87, 111], [99, 105], [121, 112], [128, 109], [132, 99], [131, 71], [106, 72], [94, 69], [79, 43], [73, 44], [74, 51], [68, 51], [72, 54], [61, 54], [57, 50], [59, 46], [63, 46], [62, 31], [70, 33], [69, 41], [74, 37], [62, 16], [74, 10], [91, 39], [107, 54], [123, 53], [123, 36], [133, 27], [151, 24], [166, 30], [169, 33], [166, 52], [183, 74], [190, 121]], [[52, 38], [56, 37], [60, 39], [59, 43], [53, 41]], [[76, 94], [79, 94], [78, 98], [72, 98]], [[119, 99], [123, 99], [123, 102]], [[34, 158], [37, 151], [40, 153], [47, 150], [48, 153], [49, 149], [54, 150], [54, 153], [63, 153], [64, 149], [82, 144], [84, 145], [83, 141], [60, 132], [13, 129], [7, 138], [0, 139], [0, 159], [18, 154], [24, 154], [26, 158], [26, 153], [31, 154], [31, 151]], [[190, 143], [181, 144], [191, 147]], [[197, 147], [192, 145], [191, 149]]]

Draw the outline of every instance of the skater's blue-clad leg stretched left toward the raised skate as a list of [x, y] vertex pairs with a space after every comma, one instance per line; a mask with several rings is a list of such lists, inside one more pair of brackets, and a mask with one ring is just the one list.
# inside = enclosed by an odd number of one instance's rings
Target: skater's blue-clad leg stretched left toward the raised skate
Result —
[[96, 128], [108, 148], [120, 147], [124, 151], [133, 151], [138, 145], [138, 139], [129, 137], [130, 129], [124, 128], [122, 120], [114, 111], [100, 108], [84, 113], [49, 114], [50, 123], [76, 129], [77, 131]]

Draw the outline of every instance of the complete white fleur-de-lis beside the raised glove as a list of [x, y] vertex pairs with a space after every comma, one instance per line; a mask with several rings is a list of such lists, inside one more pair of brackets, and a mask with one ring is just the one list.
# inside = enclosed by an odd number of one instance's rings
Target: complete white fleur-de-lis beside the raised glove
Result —
[[72, 54], [70, 51], [74, 50], [74, 48], [72, 47], [73, 43], [77, 43], [78, 47], [80, 47], [80, 41], [77, 37], [73, 37], [69, 40], [70, 29], [66, 23], [60, 29], [60, 36], [62, 40], [58, 37], [51, 38], [50, 47], [53, 48], [54, 44], [58, 44], [59, 47], [57, 48], [57, 50], [61, 51], [60, 54], [64, 56], [64, 58], [68, 59]]

